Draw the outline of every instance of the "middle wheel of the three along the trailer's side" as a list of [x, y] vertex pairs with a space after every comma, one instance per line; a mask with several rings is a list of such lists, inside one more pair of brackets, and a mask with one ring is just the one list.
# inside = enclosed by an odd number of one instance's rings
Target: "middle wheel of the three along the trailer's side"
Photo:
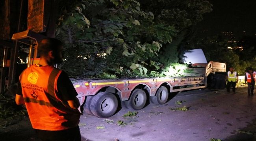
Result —
[[147, 94], [145, 91], [141, 89], [135, 89], [134, 92], [132, 92], [130, 100], [125, 101], [125, 105], [127, 108], [132, 110], [141, 110], [144, 108], [146, 102]]

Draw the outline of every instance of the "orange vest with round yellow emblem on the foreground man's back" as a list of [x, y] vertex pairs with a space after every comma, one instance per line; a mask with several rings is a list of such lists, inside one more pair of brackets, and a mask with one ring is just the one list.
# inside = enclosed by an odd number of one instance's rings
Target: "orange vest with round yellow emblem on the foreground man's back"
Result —
[[58, 98], [60, 73], [52, 66], [32, 65], [20, 75], [22, 95], [34, 129], [56, 131], [78, 126], [78, 109]]

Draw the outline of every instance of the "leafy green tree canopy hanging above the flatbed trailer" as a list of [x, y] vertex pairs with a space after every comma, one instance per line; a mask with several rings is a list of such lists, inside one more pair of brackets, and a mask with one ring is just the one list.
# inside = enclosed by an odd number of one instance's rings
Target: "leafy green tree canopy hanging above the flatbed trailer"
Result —
[[[57, 38], [70, 75], [147, 76], [182, 59], [182, 40], [212, 5], [205, 0], [61, 1]], [[161, 67], [160, 67], [161, 66]]]

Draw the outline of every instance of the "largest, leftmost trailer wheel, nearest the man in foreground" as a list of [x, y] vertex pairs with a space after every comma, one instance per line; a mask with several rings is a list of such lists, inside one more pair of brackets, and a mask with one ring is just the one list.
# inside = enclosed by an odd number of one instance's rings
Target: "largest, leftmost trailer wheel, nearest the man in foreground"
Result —
[[100, 92], [91, 100], [91, 112], [101, 118], [111, 117], [117, 111], [118, 101], [114, 94]]

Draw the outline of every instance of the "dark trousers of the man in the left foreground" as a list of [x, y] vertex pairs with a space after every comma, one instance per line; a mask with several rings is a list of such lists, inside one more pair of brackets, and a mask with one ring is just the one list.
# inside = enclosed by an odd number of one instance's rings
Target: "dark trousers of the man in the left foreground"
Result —
[[81, 141], [81, 134], [78, 126], [59, 131], [35, 129], [35, 133], [42, 139], [42, 141]]

